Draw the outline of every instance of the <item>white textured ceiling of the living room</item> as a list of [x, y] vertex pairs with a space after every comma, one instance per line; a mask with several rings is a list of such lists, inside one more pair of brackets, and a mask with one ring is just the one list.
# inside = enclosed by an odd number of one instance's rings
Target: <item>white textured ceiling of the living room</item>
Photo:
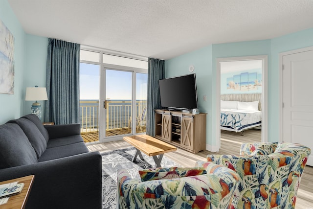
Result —
[[313, 27], [313, 0], [8, 0], [24, 31], [170, 59]]

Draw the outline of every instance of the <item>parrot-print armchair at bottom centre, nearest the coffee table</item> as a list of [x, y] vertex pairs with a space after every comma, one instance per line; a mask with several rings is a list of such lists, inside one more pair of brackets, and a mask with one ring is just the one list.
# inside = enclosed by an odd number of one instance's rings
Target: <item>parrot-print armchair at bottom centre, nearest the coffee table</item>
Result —
[[156, 168], [139, 171], [133, 179], [126, 169], [117, 173], [120, 209], [226, 209], [239, 175], [222, 165], [206, 168]]

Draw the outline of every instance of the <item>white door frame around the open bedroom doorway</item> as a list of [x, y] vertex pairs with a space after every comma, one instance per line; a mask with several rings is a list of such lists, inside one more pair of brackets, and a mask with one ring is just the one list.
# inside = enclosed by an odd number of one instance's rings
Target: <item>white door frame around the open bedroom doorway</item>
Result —
[[262, 142], [268, 141], [268, 55], [226, 57], [216, 60], [216, 139], [217, 148], [221, 148], [221, 62], [262, 60]]

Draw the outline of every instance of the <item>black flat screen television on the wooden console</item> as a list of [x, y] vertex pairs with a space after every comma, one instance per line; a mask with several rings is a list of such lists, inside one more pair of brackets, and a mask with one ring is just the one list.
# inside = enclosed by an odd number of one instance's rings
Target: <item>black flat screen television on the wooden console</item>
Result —
[[162, 108], [192, 110], [198, 108], [196, 74], [158, 81]]

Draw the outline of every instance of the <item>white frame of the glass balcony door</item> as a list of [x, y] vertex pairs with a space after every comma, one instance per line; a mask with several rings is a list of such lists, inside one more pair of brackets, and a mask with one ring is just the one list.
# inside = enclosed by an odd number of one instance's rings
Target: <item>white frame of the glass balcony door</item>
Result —
[[[128, 72], [132, 72], [133, 76], [132, 76], [132, 121], [136, 121], [136, 107], [135, 107], [135, 99], [136, 99], [136, 76], [135, 74], [137, 72], [139, 73], [148, 73], [147, 69], [139, 69], [139, 68], [133, 68], [133, 67], [127, 67], [127, 66], [118, 66], [118, 65], [112, 65], [112, 64], [102, 64], [100, 67], [100, 100], [99, 100], [99, 142], [109, 142], [109, 141], [116, 141], [116, 140], [121, 140], [123, 139], [123, 136], [128, 136], [128, 135], [135, 135], [136, 133], [134, 133], [135, 127], [136, 127], [136, 123], [132, 123], [132, 133], [127, 134], [127, 135], [118, 135], [116, 137], [106, 137], [106, 133], [105, 133], [105, 128], [103, 129], [103, 127], [105, 127], [106, 125], [106, 112], [105, 112], [105, 108], [104, 108], [104, 101], [106, 100], [105, 98], [105, 92], [103, 93], [103, 91], [106, 90], [106, 73], [105, 70], [109, 69], [109, 70], [120, 70], [120, 71], [128, 71]], [[102, 82], [104, 81], [104, 82]], [[107, 140], [109, 139], [109, 140]]]

